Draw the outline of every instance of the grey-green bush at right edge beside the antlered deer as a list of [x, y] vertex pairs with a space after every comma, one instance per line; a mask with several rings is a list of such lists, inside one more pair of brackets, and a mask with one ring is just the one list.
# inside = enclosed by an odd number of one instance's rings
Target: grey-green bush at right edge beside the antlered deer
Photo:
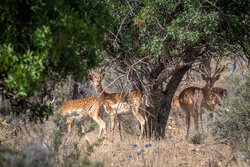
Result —
[[[245, 147], [250, 135], [250, 72], [245, 78], [236, 77], [231, 96], [221, 107], [211, 126], [221, 139], [230, 141], [235, 148]], [[249, 149], [249, 148], [248, 148]]]

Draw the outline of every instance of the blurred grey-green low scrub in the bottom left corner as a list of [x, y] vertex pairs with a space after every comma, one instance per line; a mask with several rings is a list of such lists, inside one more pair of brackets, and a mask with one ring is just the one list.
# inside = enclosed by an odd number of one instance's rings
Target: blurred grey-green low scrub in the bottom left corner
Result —
[[[93, 147], [93, 145], [87, 144], [88, 147]], [[94, 144], [96, 146], [96, 144]], [[100, 167], [102, 163], [99, 161], [91, 162], [88, 158], [90, 152], [84, 155], [83, 157], [80, 156], [80, 150], [77, 145], [74, 145], [74, 152], [72, 152], [69, 156], [67, 156], [63, 164], [61, 166], [80, 166], [80, 167]], [[27, 146], [26, 146], [27, 147]], [[51, 159], [46, 159], [46, 156], [49, 156], [47, 152], [45, 154], [43, 152], [37, 152], [41, 150], [36, 150], [37, 148], [32, 147], [29, 152], [25, 152], [25, 149], [17, 149], [14, 147], [10, 147], [8, 145], [1, 145], [0, 146], [0, 166], [1, 167], [33, 167], [33, 166], [54, 166], [58, 164], [52, 165], [53, 162]], [[29, 149], [29, 148], [28, 148]], [[41, 149], [41, 148], [39, 148]], [[58, 151], [54, 149], [53, 151]], [[34, 154], [38, 155], [29, 155], [30, 152], [34, 152]], [[48, 155], [46, 155], [48, 154]], [[54, 154], [56, 155], [56, 154]], [[53, 158], [55, 159], [55, 157]]]

